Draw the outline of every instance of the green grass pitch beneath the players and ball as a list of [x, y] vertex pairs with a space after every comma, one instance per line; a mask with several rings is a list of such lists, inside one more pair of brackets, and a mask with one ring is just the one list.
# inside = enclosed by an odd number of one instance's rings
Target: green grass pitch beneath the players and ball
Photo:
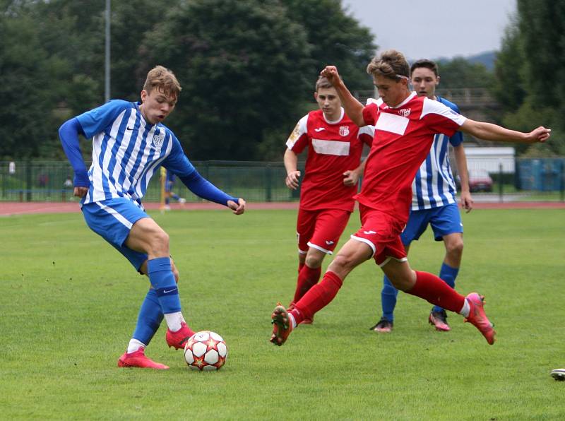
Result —
[[[563, 210], [463, 215], [460, 292], [487, 297], [498, 340], [460, 316], [450, 333], [430, 305], [399, 295], [395, 330], [380, 315], [381, 272], [359, 266], [340, 294], [281, 348], [270, 312], [292, 297], [296, 212], [154, 213], [169, 232], [186, 319], [230, 348], [220, 372], [189, 370], [165, 345], [147, 354], [166, 372], [118, 369], [148, 281], [90, 232], [80, 214], [0, 219], [0, 417], [6, 419], [557, 420], [565, 384]], [[346, 234], [357, 230], [352, 215]], [[346, 235], [344, 235], [344, 238]], [[441, 243], [426, 232], [410, 263], [436, 272]], [[330, 259], [326, 259], [325, 266]]]

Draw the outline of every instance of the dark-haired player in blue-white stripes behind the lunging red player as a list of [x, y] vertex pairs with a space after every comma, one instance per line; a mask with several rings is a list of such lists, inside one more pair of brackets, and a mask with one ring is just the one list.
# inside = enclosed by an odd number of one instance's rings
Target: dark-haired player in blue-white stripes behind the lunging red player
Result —
[[[412, 88], [418, 96], [426, 96], [431, 100], [439, 101], [459, 114], [457, 105], [436, 95], [436, 86], [439, 84], [440, 77], [438, 66], [434, 61], [427, 59], [416, 61], [410, 67], [410, 78]], [[429, 224], [434, 231], [434, 239], [436, 241], [443, 239], [446, 248], [444, 262], [439, 270], [439, 278], [453, 288], [463, 254], [463, 223], [461, 223], [457, 206], [456, 184], [449, 165], [450, 144], [453, 146], [453, 155], [461, 182], [461, 206], [467, 212], [472, 209], [463, 135], [460, 131], [450, 138], [444, 134], [436, 134], [432, 148], [412, 182], [412, 208], [400, 239], [408, 254], [410, 243], [419, 239]], [[371, 327], [371, 330], [377, 332], [392, 330], [397, 295], [398, 290], [385, 275], [381, 291], [383, 314], [376, 325]], [[439, 306], [432, 308], [428, 320], [438, 331], [450, 330], [446, 311]]]

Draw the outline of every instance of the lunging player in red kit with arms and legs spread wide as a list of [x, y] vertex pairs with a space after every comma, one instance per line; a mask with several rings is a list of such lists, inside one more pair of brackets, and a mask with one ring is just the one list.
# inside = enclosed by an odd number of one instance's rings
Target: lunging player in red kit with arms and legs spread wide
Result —
[[278, 304], [271, 313], [270, 342], [283, 345], [304, 318], [312, 318], [337, 295], [343, 280], [364, 261], [374, 258], [393, 285], [432, 304], [457, 312], [475, 326], [489, 345], [495, 332], [484, 313], [484, 297], [472, 292], [458, 294], [436, 275], [413, 271], [400, 240], [410, 214], [412, 180], [432, 147], [434, 136], [453, 136], [459, 129], [490, 141], [543, 142], [549, 129], [530, 133], [504, 129], [496, 124], [472, 121], [439, 101], [410, 92], [410, 66], [402, 53], [383, 52], [367, 66], [383, 100], [363, 106], [340, 80], [335, 66], [321, 72], [337, 91], [347, 115], [357, 126], [372, 124], [375, 136], [366, 160], [359, 201], [362, 227], [351, 236], [328, 266], [320, 283], [295, 303], [290, 312]]

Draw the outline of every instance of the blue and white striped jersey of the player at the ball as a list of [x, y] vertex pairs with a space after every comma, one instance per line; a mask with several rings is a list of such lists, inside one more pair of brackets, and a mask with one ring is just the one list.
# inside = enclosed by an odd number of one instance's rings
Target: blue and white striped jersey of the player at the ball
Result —
[[196, 171], [172, 131], [146, 122], [139, 105], [110, 100], [76, 117], [93, 138], [90, 189], [81, 203], [125, 197], [143, 208], [141, 198], [161, 165], [179, 177]]

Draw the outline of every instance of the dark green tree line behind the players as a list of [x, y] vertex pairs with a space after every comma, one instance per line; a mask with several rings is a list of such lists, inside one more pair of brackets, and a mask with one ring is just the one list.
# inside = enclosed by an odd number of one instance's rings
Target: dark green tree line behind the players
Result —
[[[0, 159], [63, 158], [59, 125], [104, 102], [105, 1], [0, 5]], [[441, 63], [441, 85], [487, 87], [503, 104], [501, 122], [525, 130], [548, 121], [559, 131], [565, 70], [545, 66], [563, 60], [553, 45], [564, 36], [562, 8], [518, 1], [495, 71], [453, 59]], [[555, 28], [536, 26], [547, 16]], [[111, 23], [111, 96], [138, 100], [149, 69], [172, 69], [183, 90], [167, 125], [194, 160], [280, 160], [295, 122], [314, 108], [326, 64], [350, 88], [372, 88], [365, 68], [375, 37], [341, 0], [113, 1]], [[546, 32], [557, 38], [544, 41]]]

